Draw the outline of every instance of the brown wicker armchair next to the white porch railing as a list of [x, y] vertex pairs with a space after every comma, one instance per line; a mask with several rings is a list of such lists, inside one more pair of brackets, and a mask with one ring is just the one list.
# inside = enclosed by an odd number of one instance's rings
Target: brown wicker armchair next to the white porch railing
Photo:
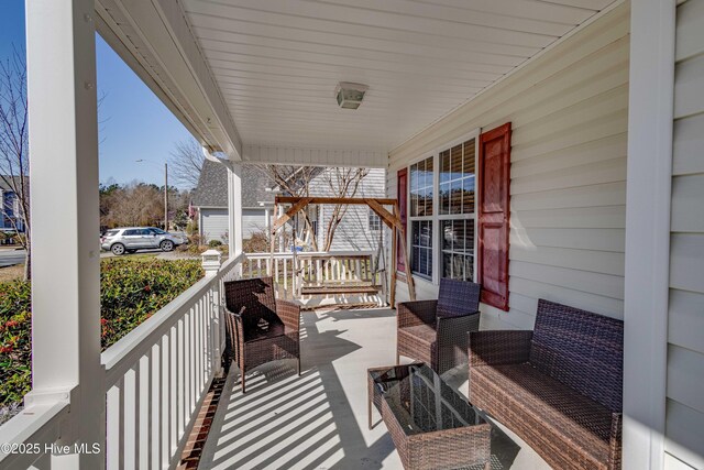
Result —
[[278, 359], [296, 359], [300, 375], [300, 306], [274, 298], [272, 277], [224, 283], [228, 357], [244, 376]]

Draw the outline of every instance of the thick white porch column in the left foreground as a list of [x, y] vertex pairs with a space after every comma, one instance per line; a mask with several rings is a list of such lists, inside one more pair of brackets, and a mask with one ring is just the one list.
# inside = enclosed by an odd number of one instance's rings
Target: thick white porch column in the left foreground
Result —
[[26, 402], [68, 394], [62, 440], [101, 448], [53, 457], [52, 468], [61, 469], [105, 467], [94, 9], [92, 0], [26, 2], [33, 251]]

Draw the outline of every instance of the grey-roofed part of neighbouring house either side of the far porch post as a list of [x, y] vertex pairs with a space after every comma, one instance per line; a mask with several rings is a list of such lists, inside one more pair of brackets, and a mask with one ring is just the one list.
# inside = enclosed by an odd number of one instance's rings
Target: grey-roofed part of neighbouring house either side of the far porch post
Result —
[[[271, 182], [251, 165], [242, 165], [242, 238], [266, 230], [274, 206], [274, 193], [267, 192]], [[206, 160], [194, 193], [198, 230], [204, 242], [228, 239], [228, 172], [219, 163]]]

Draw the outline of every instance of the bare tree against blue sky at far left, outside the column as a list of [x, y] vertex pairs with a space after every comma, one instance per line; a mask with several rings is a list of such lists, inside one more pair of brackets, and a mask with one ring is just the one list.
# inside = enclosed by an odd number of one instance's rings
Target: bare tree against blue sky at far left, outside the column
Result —
[[[16, 48], [10, 58], [0, 63], [0, 179], [16, 198], [16, 205], [2, 201], [2, 217], [13, 229], [25, 249], [24, 277], [31, 277], [30, 187], [26, 64]], [[19, 214], [18, 214], [19, 212]]]

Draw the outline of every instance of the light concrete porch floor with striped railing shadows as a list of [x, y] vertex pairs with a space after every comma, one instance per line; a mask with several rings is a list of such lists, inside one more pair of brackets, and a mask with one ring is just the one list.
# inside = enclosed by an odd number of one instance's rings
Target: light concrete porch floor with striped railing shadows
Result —
[[[200, 469], [402, 469], [376, 411], [367, 427], [366, 369], [393, 364], [396, 316], [387, 308], [310, 311], [301, 317], [301, 376], [293, 361], [248, 374], [232, 367]], [[466, 367], [446, 381], [466, 396]], [[492, 431], [492, 469], [550, 467], [503, 426]]]

